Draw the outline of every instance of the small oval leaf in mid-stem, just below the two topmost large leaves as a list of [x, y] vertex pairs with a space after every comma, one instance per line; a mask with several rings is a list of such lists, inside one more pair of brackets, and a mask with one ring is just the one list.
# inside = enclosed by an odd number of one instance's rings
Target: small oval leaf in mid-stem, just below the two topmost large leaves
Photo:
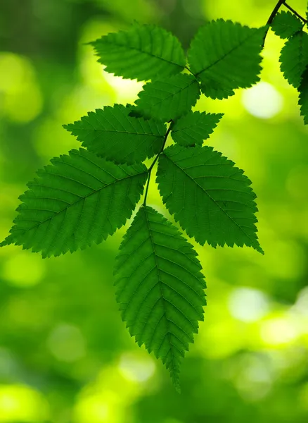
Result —
[[166, 80], [148, 82], [139, 92], [136, 111], [146, 118], [170, 121], [185, 114], [200, 97], [199, 84], [192, 75], [181, 73]]

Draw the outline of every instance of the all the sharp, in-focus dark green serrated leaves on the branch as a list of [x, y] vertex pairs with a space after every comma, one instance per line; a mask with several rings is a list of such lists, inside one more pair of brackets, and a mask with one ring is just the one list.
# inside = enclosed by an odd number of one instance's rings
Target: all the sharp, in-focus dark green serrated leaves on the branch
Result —
[[[288, 38], [281, 70], [299, 87], [307, 123], [307, 32], [290, 13], [268, 24]], [[247, 245], [263, 253], [250, 180], [221, 153], [202, 146], [222, 114], [191, 108], [200, 92], [224, 99], [259, 81], [267, 30], [231, 20], [207, 23], [191, 42], [189, 68], [179, 40], [154, 25], [134, 23], [91, 43], [106, 72], [150, 82], [136, 106], [105, 106], [65, 125], [86, 149], [56, 157], [37, 172], [1, 243], [43, 257], [101, 243], [129, 219], [146, 185], [117, 256], [117, 302], [131, 336], [162, 360], [177, 390], [181, 357], [203, 320], [205, 283], [193, 246], [147, 206], [150, 176], [158, 161], [162, 200], [198, 243]], [[176, 144], [165, 148], [169, 134]], [[153, 156], [147, 168], [142, 162]]]

